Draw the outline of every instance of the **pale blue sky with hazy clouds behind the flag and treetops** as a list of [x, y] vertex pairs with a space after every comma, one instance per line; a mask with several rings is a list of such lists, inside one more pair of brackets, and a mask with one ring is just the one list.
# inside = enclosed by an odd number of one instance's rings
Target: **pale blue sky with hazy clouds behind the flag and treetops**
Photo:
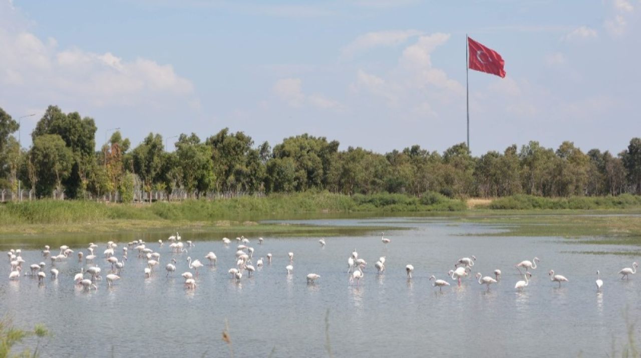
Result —
[[465, 142], [466, 34], [507, 72], [469, 71], [472, 154], [641, 135], [641, 0], [0, 0], [0, 107], [36, 114], [23, 147], [54, 104], [97, 147], [229, 127], [442, 152]]

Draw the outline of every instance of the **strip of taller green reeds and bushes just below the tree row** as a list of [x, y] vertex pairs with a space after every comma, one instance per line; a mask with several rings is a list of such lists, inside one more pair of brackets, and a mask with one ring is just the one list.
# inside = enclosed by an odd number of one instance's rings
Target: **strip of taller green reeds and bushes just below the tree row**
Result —
[[302, 213], [420, 213], [447, 211], [499, 211], [532, 209], [640, 209], [641, 197], [545, 198], [513, 195], [469, 209], [466, 200], [428, 192], [421, 197], [379, 193], [342, 195], [328, 192], [272, 194], [215, 200], [115, 204], [89, 200], [33, 200], [0, 205], [0, 225], [47, 225], [141, 220], [214, 222], [244, 217]]

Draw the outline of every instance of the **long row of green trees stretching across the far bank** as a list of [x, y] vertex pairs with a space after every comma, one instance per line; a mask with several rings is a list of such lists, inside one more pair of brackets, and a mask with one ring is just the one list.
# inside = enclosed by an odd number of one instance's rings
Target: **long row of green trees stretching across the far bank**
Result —
[[[308, 134], [258, 146], [243, 132], [222, 129], [201, 140], [181, 134], [165, 151], [160, 134], [150, 133], [131, 148], [120, 132], [96, 151], [96, 124], [79, 113], [49, 106], [35, 127], [33, 145], [22, 149], [12, 136], [15, 120], [0, 108], [0, 189], [15, 191], [19, 181], [37, 197], [64, 193], [76, 199], [133, 188], [172, 191], [192, 197], [216, 192], [408, 193], [438, 191], [450, 197], [501, 197], [528, 193], [547, 197], [641, 194], [641, 139], [617, 155], [583, 152], [572, 142], [558, 149], [529, 142], [503, 152], [470, 155], [464, 143], [443, 153], [413, 145], [378, 154], [360, 147], [338, 150], [338, 142]], [[139, 183], [139, 184], [137, 184]]]

